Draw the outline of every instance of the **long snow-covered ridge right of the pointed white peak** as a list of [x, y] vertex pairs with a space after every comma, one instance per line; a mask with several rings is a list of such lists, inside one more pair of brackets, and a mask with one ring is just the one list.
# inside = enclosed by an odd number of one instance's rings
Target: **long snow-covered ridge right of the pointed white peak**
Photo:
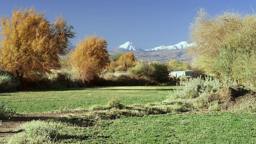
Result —
[[154, 51], [154, 50], [179, 50], [183, 48], [188, 48], [190, 46], [193, 46], [193, 43], [188, 42], [180, 42], [178, 44], [174, 44], [171, 46], [158, 46], [156, 48], [147, 49], [146, 51]]

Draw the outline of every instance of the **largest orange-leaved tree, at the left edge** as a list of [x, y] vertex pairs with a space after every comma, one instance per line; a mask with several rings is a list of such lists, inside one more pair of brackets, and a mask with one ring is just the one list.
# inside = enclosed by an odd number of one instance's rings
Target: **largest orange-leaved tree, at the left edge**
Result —
[[68, 52], [73, 27], [59, 16], [54, 23], [34, 8], [13, 10], [1, 18], [0, 68], [17, 76], [36, 79], [60, 68], [59, 55]]

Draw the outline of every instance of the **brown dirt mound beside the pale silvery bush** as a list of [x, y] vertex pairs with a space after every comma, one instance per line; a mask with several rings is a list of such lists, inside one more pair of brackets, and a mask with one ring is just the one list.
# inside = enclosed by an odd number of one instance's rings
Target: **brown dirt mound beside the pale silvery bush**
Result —
[[222, 108], [228, 109], [228, 107], [234, 105], [241, 96], [249, 96], [249, 95], [250, 96], [256, 95], [256, 92], [245, 90], [240, 87], [222, 88], [217, 92], [210, 94], [208, 96], [208, 102], [210, 103], [210, 102], [218, 101], [218, 104], [220, 104]]

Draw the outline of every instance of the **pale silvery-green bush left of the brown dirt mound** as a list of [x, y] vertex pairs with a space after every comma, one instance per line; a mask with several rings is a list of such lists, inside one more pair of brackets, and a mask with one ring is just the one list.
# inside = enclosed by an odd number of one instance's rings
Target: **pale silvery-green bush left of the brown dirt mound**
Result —
[[198, 78], [186, 79], [182, 82], [184, 86], [180, 86], [170, 96], [180, 98], [196, 98], [200, 95], [210, 94], [216, 92], [221, 88], [220, 82], [214, 80], [212, 77], [205, 77], [204, 79], [200, 76]]

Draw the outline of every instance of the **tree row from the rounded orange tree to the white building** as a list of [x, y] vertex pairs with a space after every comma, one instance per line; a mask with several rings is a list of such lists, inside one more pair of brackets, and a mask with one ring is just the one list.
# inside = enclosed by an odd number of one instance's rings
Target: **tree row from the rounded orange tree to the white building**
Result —
[[[188, 63], [174, 60], [168, 63], [136, 60], [132, 52], [110, 56], [106, 50], [106, 40], [99, 36], [87, 36], [81, 40], [70, 55], [70, 66], [86, 86], [91, 86], [98, 78], [108, 79], [109, 75], [119, 73], [126, 77], [144, 80], [144, 84], [168, 82], [170, 67], [188, 68]], [[72, 70], [70, 70], [72, 71]], [[107, 77], [106, 77], [107, 76]], [[114, 76], [115, 77], [115, 76]], [[128, 83], [128, 82], [127, 82]]]

